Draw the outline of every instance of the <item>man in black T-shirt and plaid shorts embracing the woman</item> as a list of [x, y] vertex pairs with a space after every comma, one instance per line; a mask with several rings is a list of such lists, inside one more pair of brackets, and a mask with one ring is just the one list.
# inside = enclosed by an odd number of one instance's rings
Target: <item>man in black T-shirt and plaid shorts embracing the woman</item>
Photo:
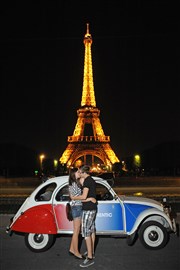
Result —
[[95, 219], [97, 213], [97, 203], [92, 201], [85, 202], [87, 198], [96, 198], [96, 183], [94, 179], [89, 175], [89, 166], [83, 165], [79, 169], [81, 178], [81, 184], [83, 186], [82, 195], [71, 197], [72, 200], [82, 200], [82, 236], [86, 241], [87, 257], [80, 264], [80, 267], [88, 267], [94, 264], [94, 245], [95, 245]]

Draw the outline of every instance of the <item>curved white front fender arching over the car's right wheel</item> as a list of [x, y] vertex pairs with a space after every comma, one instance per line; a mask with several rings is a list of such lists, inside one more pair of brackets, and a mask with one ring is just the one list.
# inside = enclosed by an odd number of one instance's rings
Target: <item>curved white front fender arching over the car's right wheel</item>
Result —
[[164, 227], [170, 228], [172, 230], [172, 222], [170, 218], [162, 211], [156, 208], [150, 208], [141, 212], [141, 214], [137, 217], [134, 226], [132, 227], [131, 231], [128, 232], [128, 235], [133, 234], [138, 228], [141, 223], [144, 223], [149, 220], [155, 220], [161, 223]]

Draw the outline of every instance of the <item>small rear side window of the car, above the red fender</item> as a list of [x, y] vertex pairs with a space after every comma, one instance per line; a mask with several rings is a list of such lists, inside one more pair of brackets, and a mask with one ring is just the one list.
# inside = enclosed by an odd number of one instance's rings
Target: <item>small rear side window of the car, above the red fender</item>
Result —
[[35, 196], [35, 201], [50, 201], [52, 197], [52, 193], [56, 188], [55, 183], [51, 183], [49, 185], [46, 185], [42, 189], [39, 190], [39, 192]]

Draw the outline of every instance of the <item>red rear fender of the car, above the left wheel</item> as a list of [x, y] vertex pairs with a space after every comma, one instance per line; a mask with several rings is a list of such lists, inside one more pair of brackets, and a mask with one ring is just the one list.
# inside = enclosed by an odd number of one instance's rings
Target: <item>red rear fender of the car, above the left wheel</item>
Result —
[[57, 234], [57, 226], [51, 205], [39, 205], [22, 212], [12, 225], [11, 231]]

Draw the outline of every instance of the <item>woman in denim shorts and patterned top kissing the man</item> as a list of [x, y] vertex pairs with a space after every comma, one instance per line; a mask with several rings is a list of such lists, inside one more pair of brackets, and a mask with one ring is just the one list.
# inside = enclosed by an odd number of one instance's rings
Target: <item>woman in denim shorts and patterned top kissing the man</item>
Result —
[[[80, 185], [80, 173], [78, 168], [73, 168], [69, 173], [69, 195], [70, 197], [76, 197], [81, 195], [82, 188]], [[96, 199], [88, 198], [86, 201], [92, 201], [96, 203]], [[82, 217], [82, 201], [71, 201], [72, 217], [73, 217], [73, 235], [71, 239], [69, 254], [75, 256], [77, 259], [82, 259], [82, 255], [79, 252], [78, 240], [81, 229], [81, 217]]]

